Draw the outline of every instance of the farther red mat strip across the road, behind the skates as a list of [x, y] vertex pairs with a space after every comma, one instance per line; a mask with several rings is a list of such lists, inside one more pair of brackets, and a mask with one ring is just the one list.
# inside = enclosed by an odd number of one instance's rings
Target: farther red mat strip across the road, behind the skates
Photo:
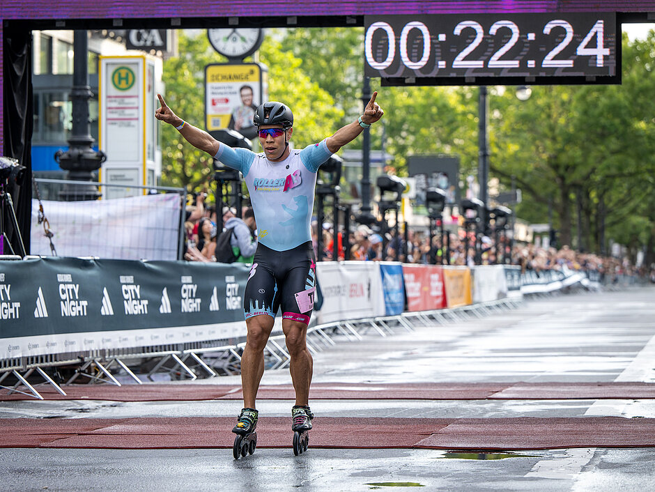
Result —
[[[21, 388], [25, 390], [25, 388]], [[47, 400], [105, 401], [199, 401], [242, 399], [236, 385], [194, 383], [144, 385], [69, 385], [67, 396], [51, 386], [39, 386]], [[316, 383], [311, 385], [310, 399], [409, 399], [409, 400], [541, 400], [541, 399], [654, 399], [652, 383], [414, 383], [348, 384]], [[294, 399], [291, 385], [263, 385], [258, 399]], [[0, 401], [33, 399], [23, 394], [0, 394]]]

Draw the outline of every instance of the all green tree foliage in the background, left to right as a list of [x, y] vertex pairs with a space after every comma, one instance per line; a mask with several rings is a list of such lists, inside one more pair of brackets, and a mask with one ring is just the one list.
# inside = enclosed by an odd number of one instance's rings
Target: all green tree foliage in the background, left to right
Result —
[[[329, 136], [362, 111], [363, 36], [361, 28], [288, 29], [265, 40], [260, 56], [270, 99], [293, 108], [296, 147]], [[164, 64], [167, 101], [202, 125], [203, 68], [219, 56], [204, 36], [180, 35], [180, 54]], [[513, 183], [521, 188], [518, 217], [543, 223], [550, 209], [562, 244], [596, 252], [610, 240], [647, 245], [655, 261], [654, 59], [653, 34], [624, 38], [621, 85], [533, 86], [525, 102], [513, 87], [489, 88], [490, 176], [501, 192]], [[385, 109], [371, 128], [371, 146], [394, 155], [397, 174], [406, 175], [408, 156], [438, 153], [459, 155], [461, 181], [477, 174], [476, 87], [380, 87], [372, 79], [371, 90]], [[163, 135], [166, 183], [206, 182], [208, 157], [171, 128]], [[361, 139], [350, 144], [358, 146]]]

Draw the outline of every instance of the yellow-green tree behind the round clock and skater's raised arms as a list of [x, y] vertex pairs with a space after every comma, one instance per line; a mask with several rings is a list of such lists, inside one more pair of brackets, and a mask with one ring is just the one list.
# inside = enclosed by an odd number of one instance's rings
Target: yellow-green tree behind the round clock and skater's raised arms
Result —
[[[164, 62], [163, 79], [167, 87], [164, 99], [185, 121], [205, 128], [204, 70], [209, 63], [225, 62], [210, 47], [206, 36], [187, 36], [179, 31], [179, 56]], [[293, 109], [297, 148], [329, 137], [337, 130], [343, 112], [334, 100], [302, 70], [302, 61], [289, 52], [282, 52], [275, 40], [267, 40], [261, 48], [261, 61], [270, 66], [269, 97], [282, 100]], [[188, 191], [206, 187], [213, 172], [212, 158], [188, 144], [171, 125], [161, 125], [162, 183], [185, 187]], [[259, 146], [259, 143], [256, 142]], [[254, 148], [259, 151], [258, 148]]]

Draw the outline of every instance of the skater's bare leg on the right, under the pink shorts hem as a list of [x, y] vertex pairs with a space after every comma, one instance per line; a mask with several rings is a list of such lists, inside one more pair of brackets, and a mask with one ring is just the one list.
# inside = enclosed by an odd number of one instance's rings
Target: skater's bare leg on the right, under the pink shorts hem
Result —
[[295, 389], [295, 404], [309, 404], [309, 385], [314, 370], [314, 360], [307, 349], [307, 325], [290, 319], [282, 320], [286, 348], [291, 356], [289, 371]]

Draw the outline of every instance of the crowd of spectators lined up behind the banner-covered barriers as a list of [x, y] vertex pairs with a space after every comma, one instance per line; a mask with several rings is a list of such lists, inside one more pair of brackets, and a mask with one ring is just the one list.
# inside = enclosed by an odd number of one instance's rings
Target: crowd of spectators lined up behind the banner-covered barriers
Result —
[[[217, 222], [214, 206], [206, 206], [206, 194], [199, 193], [194, 197], [195, 203], [187, 206], [185, 222], [186, 244], [185, 259], [189, 261], [216, 261], [216, 238], [222, 224], [226, 224], [236, 216], [234, 208], [222, 208], [222, 220]], [[256, 224], [252, 226], [254, 229]], [[311, 238], [314, 243], [314, 253], [320, 261], [331, 261], [334, 256], [334, 230], [332, 224], [326, 222], [321, 226], [321, 252], [318, 251], [318, 223], [311, 224]], [[373, 231], [369, 226], [357, 226], [348, 234], [339, 231], [336, 235], [337, 258], [339, 260], [361, 261], [401, 261], [403, 263], [449, 264], [456, 266], [475, 266], [493, 264], [511, 264], [521, 266], [521, 270], [585, 270], [598, 272], [606, 278], [616, 279], [621, 275], [640, 276], [655, 283], [655, 264], [636, 268], [627, 258], [599, 256], [594, 253], [576, 252], [564, 245], [555, 247], [539, 247], [534, 244], [514, 242], [509, 238], [499, 236], [493, 238], [482, 236], [476, 238], [474, 233], [468, 234], [460, 229], [449, 232], [442, 245], [440, 233], [433, 235], [430, 241], [429, 233], [410, 229], [407, 238], [403, 233], [396, 236], [394, 229], [386, 233]], [[345, 243], [345, 244], [344, 244]], [[255, 243], [252, 243], [254, 246]], [[442, 247], [443, 246], [443, 247]], [[347, 253], [346, 253], [347, 252]], [[250, 252], [244, 259], [250, 257]]]

